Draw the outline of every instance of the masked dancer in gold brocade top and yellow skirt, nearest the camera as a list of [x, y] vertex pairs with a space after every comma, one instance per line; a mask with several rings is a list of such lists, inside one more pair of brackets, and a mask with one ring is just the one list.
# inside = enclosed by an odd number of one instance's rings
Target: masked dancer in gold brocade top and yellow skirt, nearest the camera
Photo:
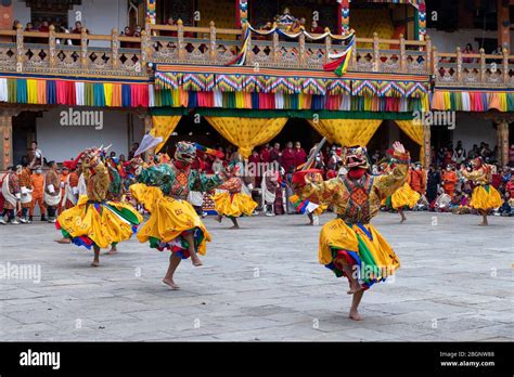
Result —
[[359, 321], [359, 303], [365, 289], [383, 282], [400, 266], [398, 257], [384, 237], [370, 224], [378, 212], [381, 202], [407, 180], [409, 153], [399, 142], [393, 144], [396, 167], [388, 174], [372, 176], [365, 148], [345, 152], [345, 176], [323, 181], [312, 170], [295, 173], [301, 198], [313, 194], [321, 204], [334, 205], [337, 219], [323, 225], [320, 235], [320, 263], [337, 277], [346, 276], [349, 295], [354, 295], [349, 317]]

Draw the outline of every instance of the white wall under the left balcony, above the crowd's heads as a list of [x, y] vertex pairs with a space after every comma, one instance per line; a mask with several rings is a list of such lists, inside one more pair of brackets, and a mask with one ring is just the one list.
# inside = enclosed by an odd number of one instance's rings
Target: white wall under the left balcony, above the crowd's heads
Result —
[[[133, 116], [133, 139], [128, 140], [128, 114], [114, 110], [103, 113], [103, 129], [94, 127], [61, 126], [60, 113], [67, 107], [51, 109], [37, 119], [36, 139], [48, 160], [61, 162], [77, 156], [87, 147], [113, 144], [110, 152], [127, 156], [129, 144], [140, 142], [143, 138], [143, 121]], [[76, 107], [75, 109], [82, 109]], [[88, 108], [83, 108], [88, 109]]]

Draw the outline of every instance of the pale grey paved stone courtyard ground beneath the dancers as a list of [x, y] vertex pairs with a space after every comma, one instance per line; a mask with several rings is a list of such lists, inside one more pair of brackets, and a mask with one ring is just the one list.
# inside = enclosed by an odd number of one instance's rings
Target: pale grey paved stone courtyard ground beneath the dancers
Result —
[[[210, 217], [205, 266], [180, 265], [182, 289], [160, 284], [168, 252], [131, 239], [89, 268], [92, 253], [57, 245], [53, 225], [0, 227], [1, 265], [37, 264], [39, 284], [0, 281], [2, 340], [514, 340], [514, 219], [381, 213], [374, 224], [402, 268], [375, 285], [347, 317], [346, 280], [318, 264], [319, 226], [303, 216], [242, 219], [229, 230]], [[332, 219], [324, 214], [322, 223]]]

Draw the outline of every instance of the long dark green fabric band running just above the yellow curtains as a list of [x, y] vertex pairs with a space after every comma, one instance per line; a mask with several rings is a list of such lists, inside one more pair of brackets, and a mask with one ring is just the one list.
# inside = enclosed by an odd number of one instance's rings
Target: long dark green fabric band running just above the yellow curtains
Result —
[[[419, 101], [415, 101], [419, 102]], [[363, 106], [363, 103], [362, 103]], [[419, 107], [415, 106], [414, 109]], [[153, 107], [152, 115], [188, 115], [184, 107]], [[409, 113], [387, 113], [387, 112], [333, 112], [333, 110], [312, 110], [312, 109], [248, 109], [248, 108], [215, 108], [197, 107], [195, 114], [204, 117], [242, 117], [242, 118], [301, 118], [313, 119], [317, 115], [320, 119], [390, 119], [390, 120], [411, 120], [413, 115]]]

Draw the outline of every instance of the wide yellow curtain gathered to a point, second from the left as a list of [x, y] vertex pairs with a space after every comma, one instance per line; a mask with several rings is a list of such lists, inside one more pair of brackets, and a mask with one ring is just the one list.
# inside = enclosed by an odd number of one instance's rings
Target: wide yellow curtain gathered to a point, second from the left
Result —
[[244, 158], [248, 158], [257, 145], [266, 144], [277, 136], [287, 121], [287, 118], [206, 117], [206, 119], [224, 139], [239, 147]]

